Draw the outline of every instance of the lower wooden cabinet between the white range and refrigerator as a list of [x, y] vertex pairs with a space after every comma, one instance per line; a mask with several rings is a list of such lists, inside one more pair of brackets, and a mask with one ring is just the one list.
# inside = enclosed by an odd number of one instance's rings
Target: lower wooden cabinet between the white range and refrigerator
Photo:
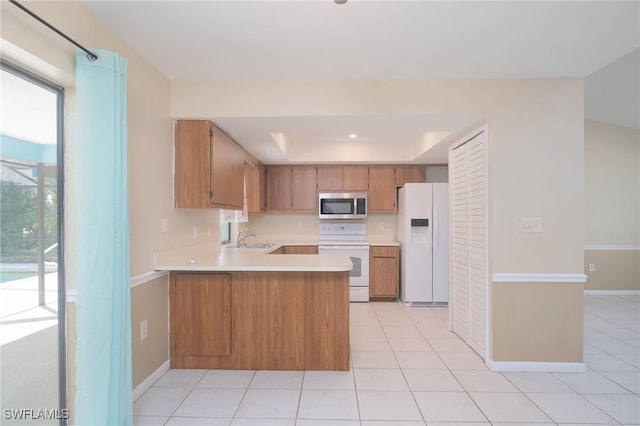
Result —
[[371, 246], [369, 249], [369, 298], [396, 299], [398, 297], [397, 246]]

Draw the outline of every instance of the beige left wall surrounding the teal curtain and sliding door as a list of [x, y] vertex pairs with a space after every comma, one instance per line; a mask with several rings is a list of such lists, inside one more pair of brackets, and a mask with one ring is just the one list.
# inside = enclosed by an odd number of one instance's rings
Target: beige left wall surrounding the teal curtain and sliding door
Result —
[[[174, 245], [218, 241], [218, 216], [211, 212], [176, 210], [172, 193], [172, 119], [170, 117], [170, 82], [139, 54], [108, 30], [80, 3], [74, 1], [28, 2], [27, 6], [51, 24], [59, 27], [89, 48], [117, 52], [128, 61], [128, 130], [129, 130], [129, 214], [131, 274], [153, 269], [153, 252]], [[20, 11], [9, 2], [1, 2], [2, 56], [37, 74], [61, 84], [66, 91], [65, 107], [65, 208], [66, 208], [66, 285], [75, 285], [75, 48], [61, 37]], [[82, 178], [82, 177], [80, 177]], [[169, 232], [161, 232], [162, 219], [169, 222]], [[198, 228], [198, 239], [192, 228]], [[211, 235], [207, 232], [211, 227]], [[153, 281], [132, 290], [133, 336], [139, 336], [140, 318], [149, 320], [149, 341], [133, 346], [134, 383], [168, 359], [166, 348], [156, 351], [168, 339], [166, 300], [167, 279]], [[144, 292], [144, 297], [138, 293]], [[69, 401], [74, 399], [73, 355], [75, 351], [75, 312], [69, 307], [68, 378]], [[137, 332], [136, 332], [137, 330]], [[151, 333], [153, 330], [153, 339]], [[156, 336], [156, 333], [160, 333]], [[157, 339], [157, 341], [156, 341]], [[139, 340], [139, 339], [138, 339]]]

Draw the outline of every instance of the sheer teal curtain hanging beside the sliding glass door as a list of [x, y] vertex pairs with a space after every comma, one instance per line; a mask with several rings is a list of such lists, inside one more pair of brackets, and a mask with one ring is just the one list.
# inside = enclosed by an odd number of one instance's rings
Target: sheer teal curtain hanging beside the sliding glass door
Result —
[[76, 55], [75, 424], [132, 425], [127, 62]]

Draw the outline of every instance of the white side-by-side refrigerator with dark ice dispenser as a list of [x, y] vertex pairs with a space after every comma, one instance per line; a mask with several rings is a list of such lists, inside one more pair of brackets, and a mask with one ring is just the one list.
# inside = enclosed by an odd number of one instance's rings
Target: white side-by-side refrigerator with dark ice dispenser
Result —
[[408, 305], [449, 300], [449, 185], [407, 183], [398, 190], [400, 298]]

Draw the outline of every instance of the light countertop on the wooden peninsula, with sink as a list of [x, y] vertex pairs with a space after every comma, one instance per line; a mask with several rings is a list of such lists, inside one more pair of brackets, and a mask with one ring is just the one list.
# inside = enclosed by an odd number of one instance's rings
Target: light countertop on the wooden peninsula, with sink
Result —
[[[353, 268], [349, 256], [341, 254], [269, 254], [268, 249], [219, 247], [211, 244], [182, 247], [154, 253], [159, 271], [310, 271], [341, 272]], [[298, 242], [296, 245], [300, 245]]]

